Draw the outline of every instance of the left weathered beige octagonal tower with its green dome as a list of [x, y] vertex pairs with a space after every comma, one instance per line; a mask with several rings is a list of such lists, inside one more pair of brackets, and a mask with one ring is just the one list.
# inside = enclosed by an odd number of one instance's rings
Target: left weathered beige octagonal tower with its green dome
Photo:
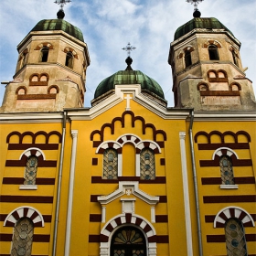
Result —
[[78, 27], [44, 19], [17, 46], [14, 80], [5, 88], [2, 112], [59, 112], [83, 106], [90, 57]]

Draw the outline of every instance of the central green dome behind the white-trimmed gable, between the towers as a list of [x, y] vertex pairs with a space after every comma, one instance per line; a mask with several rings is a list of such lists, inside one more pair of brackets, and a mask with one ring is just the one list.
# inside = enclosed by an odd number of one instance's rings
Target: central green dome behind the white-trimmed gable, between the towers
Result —
[[141, 84], [142, 91], [153, 92], [165, 100], [161, 86], [139, 70], [118, 71], [105, 80], [102, 80], [94, 93], [94, 99], [114, 89], [116, 84]]

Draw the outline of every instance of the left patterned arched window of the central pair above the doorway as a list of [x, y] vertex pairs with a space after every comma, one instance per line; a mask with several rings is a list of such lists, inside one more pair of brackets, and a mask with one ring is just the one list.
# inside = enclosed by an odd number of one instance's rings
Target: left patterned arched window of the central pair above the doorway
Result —
[[117, 152], [107, 148], [103, 153], [103, 179], [117, 179]]

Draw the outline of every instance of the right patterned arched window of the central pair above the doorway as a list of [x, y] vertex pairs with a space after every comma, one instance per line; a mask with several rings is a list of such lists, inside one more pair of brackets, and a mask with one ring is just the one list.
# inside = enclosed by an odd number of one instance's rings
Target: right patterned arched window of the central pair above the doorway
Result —
[[144, 148], [140, 155], [141, 179], [155, 179], [155, 154], [150, 148]]

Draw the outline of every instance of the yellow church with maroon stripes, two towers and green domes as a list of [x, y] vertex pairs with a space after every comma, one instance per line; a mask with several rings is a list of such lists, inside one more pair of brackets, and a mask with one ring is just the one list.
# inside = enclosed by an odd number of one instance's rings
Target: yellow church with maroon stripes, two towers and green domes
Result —
[[166, 56], [174, 107], [128, 57], [85, 108], [90, 49], [64, 16], [32, 27], [5, 87], [0, 256], [255, 256], [256, 101], [239, 38], [195, 8]]

